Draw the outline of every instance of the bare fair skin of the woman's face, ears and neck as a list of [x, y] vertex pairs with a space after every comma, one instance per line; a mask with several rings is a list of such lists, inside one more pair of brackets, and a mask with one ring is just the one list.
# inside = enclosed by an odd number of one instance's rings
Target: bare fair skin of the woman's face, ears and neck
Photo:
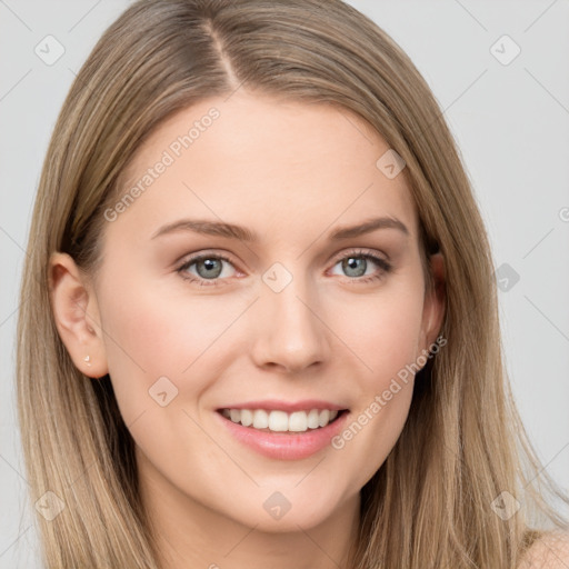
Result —
[[[137, 443], [142, 500], [160, 532], [164, 567], [346, 567], [359, 491], [401, 432], [413, 377], [342, 449], [328, 446], [301, 460], [242, 446], [216, 409], [325, 399], [349, 409], [351, 423], [439, 335], [443, 259], [430, 259], [439, 287], [427, 296], [405, 173], [388, 179], [376, 167], [387, 142], [331, 106], [243, 89], [227, 101], [203, 101], [147, 140], [130, 179], [213, 106], [219, 119], [107, 224], [97, 276], [64, 253], [52, 256], [57, 327], [83, 373], [110, 373]], [[399, 219], [409, 236], [379, 229], [328, 239], [340, 226], [379, 216]], [[244, 226], [260, 241], [189, 231], [152, 239], [182, 218]], [[379, 278], [361, 282], [341, 262], [357, 257], [362, 267], [359, 249], [389, 259], [392, 270], [367, 260], [366, 277]], [[198, 252], [231, 259], [218, 286], [177, 272]], [[280, 292], [261, 278], [274, 262], [292, 276]], [[199, 279], [197, 270], [186, 274]], [[149, 397], [162, 376], [178, 389], [166, 407]], [[274, 491], [291, 505], [280, 519], [263, 508]]]

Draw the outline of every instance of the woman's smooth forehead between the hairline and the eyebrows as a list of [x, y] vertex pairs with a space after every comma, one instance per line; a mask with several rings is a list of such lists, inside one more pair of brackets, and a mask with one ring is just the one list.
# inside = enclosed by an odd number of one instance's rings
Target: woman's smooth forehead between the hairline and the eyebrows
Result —
[[391, 214], [416, 234], [405, 169], [385, 173], [390, 152], [347, 109], [238, 91], [183, 109], [154, 130], [124, 172], [121, 194], [139, 191], [120, 221], [132, 230], [146, 226], [149, 234], [187, 213], [254, 226], [266, 236], [280, 229], [309, 236], [335, 222]]

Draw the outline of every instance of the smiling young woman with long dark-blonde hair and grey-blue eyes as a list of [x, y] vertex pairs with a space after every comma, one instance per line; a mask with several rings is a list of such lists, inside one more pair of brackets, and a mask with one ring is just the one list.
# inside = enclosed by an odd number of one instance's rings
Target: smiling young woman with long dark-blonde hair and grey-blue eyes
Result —
[[569, 563], [453, 140], [339, 0], [132, 4], [56, 124], [21, 293], [47, 567]]

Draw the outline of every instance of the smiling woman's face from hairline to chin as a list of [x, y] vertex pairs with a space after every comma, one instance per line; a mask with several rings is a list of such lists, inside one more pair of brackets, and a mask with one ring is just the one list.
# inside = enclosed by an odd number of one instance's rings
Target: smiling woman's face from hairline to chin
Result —
[[290, 531], [358, 502], [442, 318], [388, 150], [346, 110], [241, 90], [138, 152], [87, 315], [153, 507]]

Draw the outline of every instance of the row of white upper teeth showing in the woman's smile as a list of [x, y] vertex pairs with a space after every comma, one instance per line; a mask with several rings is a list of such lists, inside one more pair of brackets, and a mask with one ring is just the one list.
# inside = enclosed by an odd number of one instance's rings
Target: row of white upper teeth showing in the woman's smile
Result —
[[305, 432], [308, 429], [326, 427], [338, 417], [338, 411], [310, 409], [307, 411], [266, 411], [264, 409], [223, 409], [223, 417], [243, 427], [269, 429], [274, 432]]

